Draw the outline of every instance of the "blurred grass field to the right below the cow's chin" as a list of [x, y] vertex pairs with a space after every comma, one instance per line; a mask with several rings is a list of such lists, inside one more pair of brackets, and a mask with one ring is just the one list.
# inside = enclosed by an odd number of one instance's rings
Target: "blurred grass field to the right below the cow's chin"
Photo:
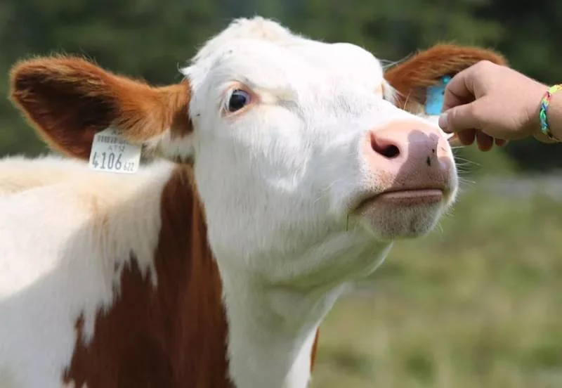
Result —
[[471, 186], [339, 300], [314, 388], [562, 387], [562, 202]]

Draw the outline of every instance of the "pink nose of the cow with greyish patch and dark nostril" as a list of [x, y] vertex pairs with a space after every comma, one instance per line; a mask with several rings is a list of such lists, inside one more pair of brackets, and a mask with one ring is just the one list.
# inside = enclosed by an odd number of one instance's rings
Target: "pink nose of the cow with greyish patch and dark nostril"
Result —
[[384, 186], [447, 186], [454, 162], [438, 127], [418, 120], [390, 122], [368, 131], [367, 168]]

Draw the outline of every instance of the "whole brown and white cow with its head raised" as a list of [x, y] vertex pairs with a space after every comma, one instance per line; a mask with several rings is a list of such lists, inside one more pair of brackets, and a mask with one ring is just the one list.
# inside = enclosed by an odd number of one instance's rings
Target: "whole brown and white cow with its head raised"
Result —
[[[60, 155], [0, 162], [1, 387], [307, 387], [346, 286], [455, 202], [424, 90], [480, 60], [504, 63], [440, 44], [385, 69], [256, 17], [177, 84], [15, 63], [11, 99]], [[100, 171], [100, 134], [137, 169]]]

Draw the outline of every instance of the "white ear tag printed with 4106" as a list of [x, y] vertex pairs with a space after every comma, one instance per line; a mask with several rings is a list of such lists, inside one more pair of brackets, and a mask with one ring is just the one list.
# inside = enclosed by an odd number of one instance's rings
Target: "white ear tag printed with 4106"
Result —
[[93, 136], [89, 166], [100, 172], [134, 174], [141, 163], [141, 146], [133, 145], [107, 128]]

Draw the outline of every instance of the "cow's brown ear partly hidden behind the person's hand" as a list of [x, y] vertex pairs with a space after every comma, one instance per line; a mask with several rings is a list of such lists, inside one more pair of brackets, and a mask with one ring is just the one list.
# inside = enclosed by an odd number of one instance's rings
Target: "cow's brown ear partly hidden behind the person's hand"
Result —
[[425, 103], [428, 86], [436, 84], [444, 75], [454, 76], [481, 60], [507, 66], [507, 60], [495, 51], [438, 44], [386, 70], [384, 78], [398, 91], [396, 104], [405, 110], [417, 112]]

